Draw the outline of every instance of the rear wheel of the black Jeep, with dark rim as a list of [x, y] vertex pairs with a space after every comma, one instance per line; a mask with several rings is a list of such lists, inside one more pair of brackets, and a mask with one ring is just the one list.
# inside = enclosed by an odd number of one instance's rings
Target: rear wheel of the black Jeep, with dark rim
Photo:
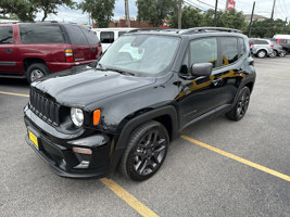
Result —
[[245, 115], [248, 110], [250, 95], [250, 89], [244, 87], [239, 93], [236, 105], [228, 113], [226, 113], [226, 117], [235, 122], [240, 120]]

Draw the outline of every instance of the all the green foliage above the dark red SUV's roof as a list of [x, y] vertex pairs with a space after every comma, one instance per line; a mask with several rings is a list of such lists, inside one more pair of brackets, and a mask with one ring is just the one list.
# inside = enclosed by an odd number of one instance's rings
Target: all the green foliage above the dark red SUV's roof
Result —
[[1, 0], [0, 13], [15, 14], [21, 21], [34, 21], [37, 12], [43, 12], [45, 21], [48, 14], [56, 14], [59, 5], [73, 8], [75, 2], [72, 0]]

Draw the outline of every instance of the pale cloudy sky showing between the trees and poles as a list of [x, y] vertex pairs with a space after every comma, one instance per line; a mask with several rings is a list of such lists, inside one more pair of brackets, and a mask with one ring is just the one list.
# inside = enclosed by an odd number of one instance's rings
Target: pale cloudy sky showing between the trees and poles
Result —
[[[76, 2], [81, 2], [81, 0], [75, 0]], [[242, 11], [244, 14], [251, 14], [254, 0], [235, 0], [236, 10]], [[137, 16], [136, 0], [128, 0], [129, 2], [129, 14], [130, 17]], [[201, 10], [214, 9], [215, 0], [184, 0], [185, 5], [192, 5]], [[274, 0], [255, 0], [255, 14], [270, 17], [272, 8]], [[218, 10], [225, 10], [226, 0], [218, 0]], [[42, 18], [42, 13], [38, 13], [36, 21]], [[116, 0], [114, 9], [114, 20], [119, 20], [119, 17], [125, 16], [125, 1]], [[276, 0], [274, 18], [281, 18], [289, 22], [290, 20], [290, 0]], [[89, 23], [88, 14], [84, 14], [80, 10], [71, 10], [67, 7], [60, 7], [58, 15], [51, 14], [47, 18], [48, 21], [59, 21], [59, 22], [74, 22], [74, 23]]]

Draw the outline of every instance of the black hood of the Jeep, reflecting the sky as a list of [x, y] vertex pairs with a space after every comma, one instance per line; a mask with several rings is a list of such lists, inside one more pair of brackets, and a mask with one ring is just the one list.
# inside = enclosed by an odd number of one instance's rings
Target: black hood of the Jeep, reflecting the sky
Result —
[[33, 82], [31, 88], [49, 94], [63, 105], [85, 107], [102, 99], [154, 82], [155, 78], [83, 67], [51, 74]]

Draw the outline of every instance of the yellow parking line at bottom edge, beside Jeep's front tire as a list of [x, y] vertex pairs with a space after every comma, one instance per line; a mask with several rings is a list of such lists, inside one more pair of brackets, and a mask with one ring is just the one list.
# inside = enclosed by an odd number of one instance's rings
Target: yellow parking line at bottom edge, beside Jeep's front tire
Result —
[[155, 217], [157, 216], [153, 210], [148, 208], [144, 204], [139, 202], [134, 195], [114, 182], [112, 179], [102, 178], [100, 179], [103, 184], [111, 189], [118, 197], [129, 204], [141, 216]]

